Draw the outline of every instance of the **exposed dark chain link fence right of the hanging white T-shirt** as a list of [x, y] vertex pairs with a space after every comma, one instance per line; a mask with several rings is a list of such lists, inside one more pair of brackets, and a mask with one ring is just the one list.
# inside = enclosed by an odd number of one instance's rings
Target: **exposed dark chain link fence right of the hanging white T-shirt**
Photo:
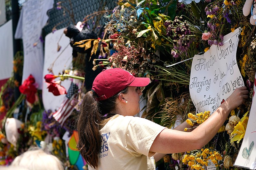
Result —
[[[56, 29], [67, 27], [78, 21], [83, 21], [84, 17], [96, 11], [103, 11], [105, 7], [113, 9], [117, 5], [117, 0], [66, 0], [61, 2], [62, 8], [57, 9], [57, 3], [60, 0], [54, 0], [54, 8], [48, 11], [49, 24], [43, 28], [43, 36], [52, 32], [52, 28]], [[104, 26], [106, 18], [104, 14], [98, 15], [90, 19], [87, 23], [90, 29], [95, 33], [99, 33]]]

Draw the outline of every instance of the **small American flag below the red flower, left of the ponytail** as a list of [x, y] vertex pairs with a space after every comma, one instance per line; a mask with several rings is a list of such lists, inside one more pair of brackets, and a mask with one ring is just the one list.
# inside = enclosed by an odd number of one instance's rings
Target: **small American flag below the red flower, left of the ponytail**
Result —
[[74, 110], [74, 106], [71, 105], [70, 102], [78, 97], [77, 91], [77, 85], [72, 82], [68, 89], [67, 95], [60, 105], [60, 108], [52, 115], [54, 119], [60, 123], [61, 126], [63, 126], [64, 122], [68, 119]]

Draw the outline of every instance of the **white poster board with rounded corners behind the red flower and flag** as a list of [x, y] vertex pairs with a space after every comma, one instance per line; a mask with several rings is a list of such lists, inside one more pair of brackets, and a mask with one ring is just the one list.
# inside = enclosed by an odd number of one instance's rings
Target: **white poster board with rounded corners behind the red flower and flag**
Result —
[[[44, 109], [52, 111], [57, 110], [60, 107], [62, 100], [65, 95], [54, 96], [52, 92], [48, 92], [44, 76], [50, 74], [47, 70], [53, 61], [59, 56], [59, 58], [54, 63], [52, 71], [54, 75], [58, 75], [59, 72], [62, 73], [63, 70], [69, 69], [72, 65], [72, 47], [69, 45], [69, 38], [63, 33], [64, 28], [55, 31], [54, 33], [49, 33], [45, 37], [45, 49], [44, 49], [44, 69], [43, 69], [43, 88], [42, 88], [42, 98]], [[61, 49], [57, 52], [57, 42], [61, 38], [59, 45]], [[66, 46], [68, 47], [64, 49]], [[63, 51], [65, 50], [65, 51]], [[56, 78], [55, 81], [59, 80]], [[64, 80], [61, 82], [61, 85], [64, 86], [68, 92], [68, 88], [71, 84], [70, 80]]]

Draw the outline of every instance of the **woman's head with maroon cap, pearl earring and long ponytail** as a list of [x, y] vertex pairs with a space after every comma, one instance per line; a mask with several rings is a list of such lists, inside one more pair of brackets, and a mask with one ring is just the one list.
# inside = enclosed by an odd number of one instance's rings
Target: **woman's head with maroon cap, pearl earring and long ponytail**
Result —
[[100, 149], [99, 125], [110, 115], [135, 115], [140, 111], [138, 87], [148, 85], [149, 78], [134, 77], [120, 68], [103, 70], [84, 95], [77, 122], [77, 148], [86, 162], [96, 168]]

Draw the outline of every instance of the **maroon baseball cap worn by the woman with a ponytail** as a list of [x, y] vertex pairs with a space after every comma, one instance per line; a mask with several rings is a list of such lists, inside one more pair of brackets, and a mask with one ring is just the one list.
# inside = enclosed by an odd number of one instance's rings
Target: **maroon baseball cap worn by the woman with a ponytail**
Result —
[[148, 85], [149, 78], [134, 77], [131, 73], [120, 68], [102, 70], [94, 79], [92, 90], [98, 95], [96, 100], [106, 100], [127, 86], [143, 87]]

